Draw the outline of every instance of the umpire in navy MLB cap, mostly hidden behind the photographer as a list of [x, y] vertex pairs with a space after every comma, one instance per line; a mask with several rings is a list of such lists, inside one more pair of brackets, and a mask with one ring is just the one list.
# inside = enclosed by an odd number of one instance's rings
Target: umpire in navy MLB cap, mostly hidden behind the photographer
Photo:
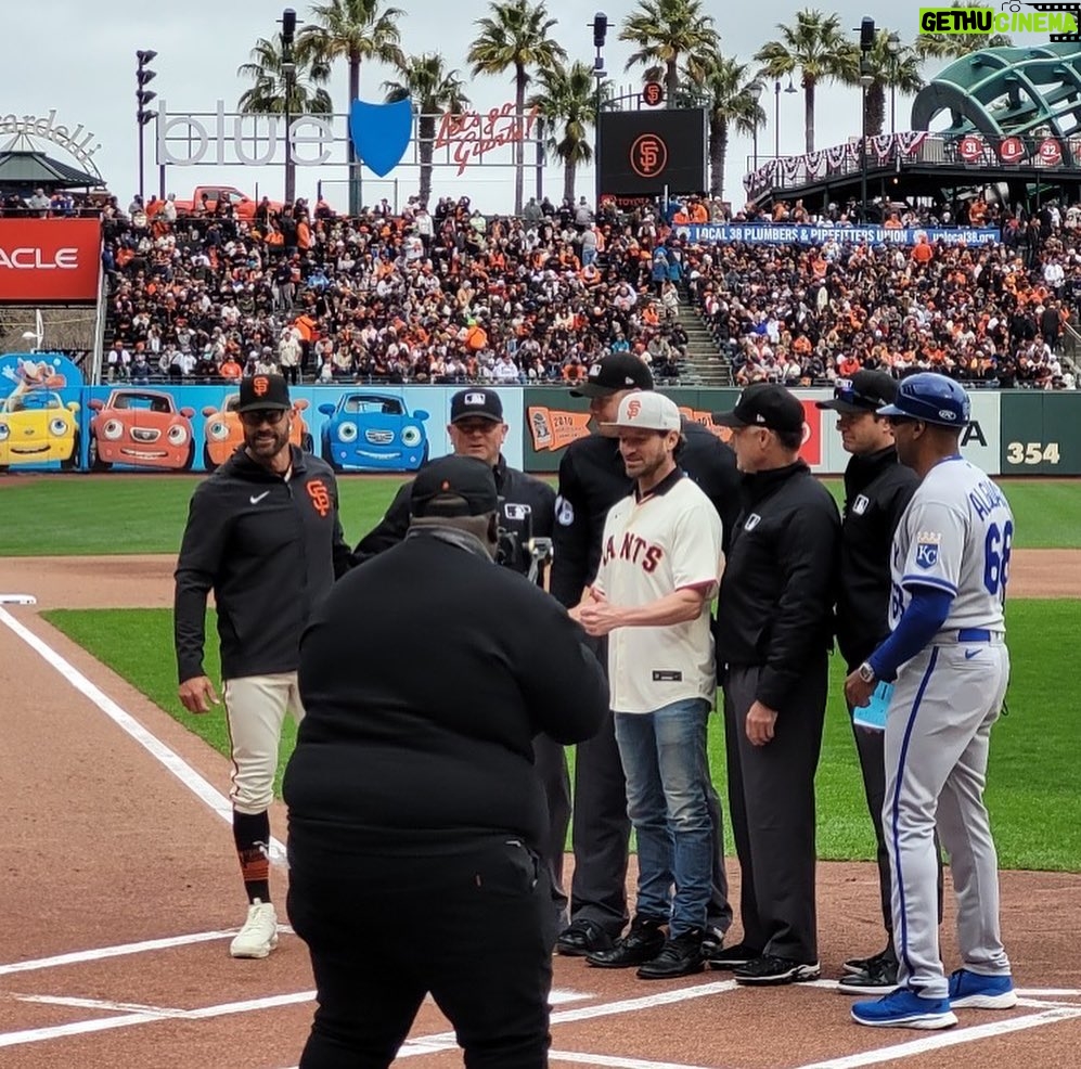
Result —
[[[503, 421], [503, 402], [493, 389], [474, 386], [459, 390], [450, 399], [450, 425], [447, 427], [455, 456], [475, 456], [484, 461], [496, 477], [500, 497], [500, 541], [497, 559], [522, 575], [537, 572], [544, 554], [530, 549], [535, 539], [551, 539], [555, 517], [555, 491], [546, 482], [511, 467], [502, 453], [507, 425]], [[397, 545], [409, 531], [411, 481], [402, 484], [386, 515], [365, 534], [353, 551], [358, 563]], [[535, 567], [535, 565], [537, 567]], [[567, 894], [563, 889], [563, 855], [570, 823], [570, 780], [563, 747], [546, 735], [533, 740], [537, 773], [544, 784], [549, 807], [549, 834], [541, 857], [551, 885], [555, 924], [565, 923]]]

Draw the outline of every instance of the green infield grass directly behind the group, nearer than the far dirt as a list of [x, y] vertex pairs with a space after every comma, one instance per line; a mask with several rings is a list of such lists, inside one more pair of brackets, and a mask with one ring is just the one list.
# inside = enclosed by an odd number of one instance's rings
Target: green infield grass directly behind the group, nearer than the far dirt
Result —
[[[1081, 603], [1022, 601], [1009, 604], [1013, 678], [1009, 716], [994, 729], [988, 776], [988, 807], [1007, 868], [1081, 872], [1081, 793], [1077, 790], [1077, 713], [1063, 694], [1060, 651], [1079, 637]], [[156, 705], [221, 752], [228, 752], [220, 708], [204, 717], [177, 700], [171, 657], [172, 623], [167, 609], [53, 610], [50, 622], [104, 661]], [[213, 635], [213, 615], [207, 634]], [[1047, 635], [1058, 635], [1051, 643]], [[208, 643], [213, 649], [216, 643]], [[870, 860], [874, 851], [851, 727], [840, 697], [842, 666], [834, 659], [833, 685], [818, 774], [819, 855]], [[218, 678], [217, 659], [207, 670]], [[292, 722], [283, 757], [292, 748]], [[713, 778], [724, 796], [724, 748], [720, 719], [710, 720]], [[732, 852], [729, 829], [729, 852]]]

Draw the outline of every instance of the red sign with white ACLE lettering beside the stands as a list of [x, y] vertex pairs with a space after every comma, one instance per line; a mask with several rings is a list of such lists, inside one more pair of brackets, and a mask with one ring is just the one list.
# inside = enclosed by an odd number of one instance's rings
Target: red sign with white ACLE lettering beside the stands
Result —
[[96, 219], [0, 219], [0, 304], [95, 301]]

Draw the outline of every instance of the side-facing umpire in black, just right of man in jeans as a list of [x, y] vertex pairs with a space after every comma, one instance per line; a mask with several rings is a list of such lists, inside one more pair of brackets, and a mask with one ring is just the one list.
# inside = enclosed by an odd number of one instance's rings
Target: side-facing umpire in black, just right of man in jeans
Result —
[[717, 603], [744, 938], [710, 964], [735, 969], [738, 983], [814, 980], [814, 772], [840, 519], [799, 460], [803, 407], [783, 386], [748, 386], [713, 422], [732, 427], [746, 473]]

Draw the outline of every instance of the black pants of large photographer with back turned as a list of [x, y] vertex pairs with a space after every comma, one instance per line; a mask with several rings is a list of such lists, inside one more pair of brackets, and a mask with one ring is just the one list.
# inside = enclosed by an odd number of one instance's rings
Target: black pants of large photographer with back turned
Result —
[[291, 834], [289, 864], [318, 1002], [300, 1069], [385, 1069], [429, 992], [469, 1069], [548, 1065], [551, 924], [532, 851], [499, 836], [438, 857], [337, 855]]

